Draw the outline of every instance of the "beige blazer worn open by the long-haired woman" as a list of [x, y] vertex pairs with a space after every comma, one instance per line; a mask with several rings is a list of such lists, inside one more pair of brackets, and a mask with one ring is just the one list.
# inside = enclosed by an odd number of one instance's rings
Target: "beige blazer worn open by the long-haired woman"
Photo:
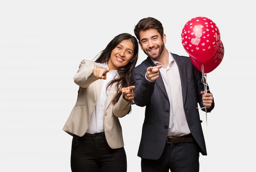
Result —
[[[101, 91], [102, 80], [93, 76], [93, 69], [99, 66], [94, 61], [83, 60], [74, 76], [74, 82], [79, 85], [76, 104], [73, 107], [63, 130], [70, 135], [83, 136], [89, 126], [90, 117], [96, 106]], [[118, 118], [129, 113], [131, 101], [124, 100], [121, 95], [117, 104], [113, 105], [112, 98], [116, 94], [116, 85], [110, 88], [104, 112], [104, 130], [110, 148], [124, 146], [122, 128]]]

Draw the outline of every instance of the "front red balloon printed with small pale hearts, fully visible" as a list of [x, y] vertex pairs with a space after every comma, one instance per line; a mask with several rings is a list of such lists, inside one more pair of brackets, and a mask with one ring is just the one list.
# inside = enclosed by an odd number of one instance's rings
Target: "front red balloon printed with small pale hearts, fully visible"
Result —
[[198, 62], [208, 61], [220, 45], [220, 31], [207, 17], [195, 17], [182, 29], [182, 45]]

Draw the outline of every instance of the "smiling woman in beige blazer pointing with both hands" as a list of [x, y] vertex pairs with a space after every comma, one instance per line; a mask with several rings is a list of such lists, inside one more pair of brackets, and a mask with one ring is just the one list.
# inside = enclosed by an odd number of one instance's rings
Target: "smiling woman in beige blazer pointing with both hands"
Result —
[[73, 136], [72, 172], [126, 172], [119, 119], [131, 111], [131, 73], [138, 59], [137, 39], [122, 33], [94, 61], [83, 60], [74, 76], [76, 105], [63, 127]]

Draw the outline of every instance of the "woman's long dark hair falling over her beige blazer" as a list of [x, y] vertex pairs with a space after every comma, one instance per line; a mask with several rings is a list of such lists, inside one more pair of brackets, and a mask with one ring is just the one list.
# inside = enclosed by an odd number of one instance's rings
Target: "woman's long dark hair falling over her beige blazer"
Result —
[[139, 46], [138, 46], [138, 42], [137, 39], [130, 35], [129, 33], [121, 33], [119, 35], [117, 35], [116, 37], [114, 37], [110, 43], [108, 43], [108, 45], [106, 46], [106, 48], [104, 50], [101, 51], [99, 57], [95, 60], [95, 62], [98, 63], [106, 63], [108, 62], [109, 58], [110, 58], [110, 54], [112, 52], [112, 50], [114, 48], [116, 48], [121, 41], [128, 39], [131, 40], [133, 43], [133, 57], [132, 57], [132, 62], [129, 62], [126, 66], [124, 67], [119, 67], [118, 68], [118, 74], [119, 74], [119, 78], [115, 78], [114, 80], [110, 81], [110, 83], [108, 84], [108, 87], [110, 85], [112, 85], [113, 83], [117, 83], [117, 94], [115, 95], [115, 97], [113, 98], [113, 103], [117, 103], [117, 101], [119, 100], [120, 96], [121, 96], [121, 91], [120, 89], [122, 87], [128, 87], [132, 85], [132, 70], [135, 67], [137, 60], [138, 60], [138, 51], [139, 51]]

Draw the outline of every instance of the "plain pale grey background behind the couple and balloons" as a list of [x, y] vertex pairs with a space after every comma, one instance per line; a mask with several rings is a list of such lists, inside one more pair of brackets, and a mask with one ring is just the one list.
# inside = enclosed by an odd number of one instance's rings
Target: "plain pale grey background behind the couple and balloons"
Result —
[[[207, 17], [220, 30], [225, 54], [207, 74], [216, 102], [200, 112], [207, 156], [201, 172], [245, 171], [255, 161], [255, 5], [223, 0], [0, 0], [0, 171], [70, 172], [72, 137], [62, 131], [75, 104], [82, 59], [93, 59], [144, 17], [162, 22], [166, 47], [186, 55], [182, 28]], [[140, 50], [138, 63], [146, 55]], [[144, 108], [120, 119], [128, 172], [140, 171], [137, 150]], [[247, 170], [250, 171], [250, 170]]]

